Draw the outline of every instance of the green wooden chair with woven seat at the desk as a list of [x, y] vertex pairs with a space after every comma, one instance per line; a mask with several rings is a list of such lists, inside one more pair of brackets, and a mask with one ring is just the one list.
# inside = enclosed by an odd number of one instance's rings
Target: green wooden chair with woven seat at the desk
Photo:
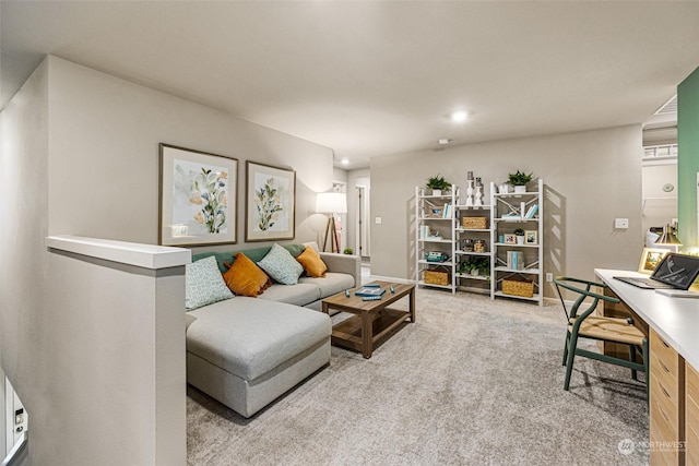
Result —
[[[593, 287], [606, 288], [606, 285], [603, 283], [571, 277], [556, 277], [554, 283], [556, 284], [558, 297], [564, 306], [566, 316], [568, 318], [568, 332], [566, 334], [566, 345], [564, 346], [562, 362], [562, 365], [566, 366], [566, 381], [564, 382], [564, 390], [568, 391], [570, 387], [570, 375], [572, 373], [574, 357], [583, 356], [585, 358], [629, 368], [631, 369], [631, 378], [636, 381], [638, 381], [637, 371], [645, 372], [645, 396], [648, 397], [648, 390], [650, 386], [648, 383], [648, 337], [643, 332], [633, 326], [633, 320], [630, 318], [617, 319], [592, 315], [600, 301], [616, 303], [619, 302], [619, 299], [592, 291]], [[561, 288], [578, 295], [578, 298], [570, 310], [566, 307]], [[583, 304], [585, 304], [587, 308], [581, 310], [580, 307]], [[627, 345], [629, 347], [629, 360], [578, 348], [578, 338], [581, 337]], [[636, 360], [637, 349], [640, 350], [643, 356], [642, 362], [637, 362]]]

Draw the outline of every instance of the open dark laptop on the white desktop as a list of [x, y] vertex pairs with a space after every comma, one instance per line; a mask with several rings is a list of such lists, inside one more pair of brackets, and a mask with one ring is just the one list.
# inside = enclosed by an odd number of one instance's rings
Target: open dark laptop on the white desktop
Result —
[[699, 275], [699, 258], [668, 253], [657, 264], [650, 277], [614, 277], [629, 285], [647, 289], [687, 290]]

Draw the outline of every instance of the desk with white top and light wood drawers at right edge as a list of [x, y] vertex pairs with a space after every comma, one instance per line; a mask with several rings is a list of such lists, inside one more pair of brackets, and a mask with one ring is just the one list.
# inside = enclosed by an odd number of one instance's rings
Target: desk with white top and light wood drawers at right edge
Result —
[[[699, 299], [671, 298], [614, 279], [644, 276], [596, 268], [650, 334], [651, 465], [690, 465], [699, 458]], [[627, 308], [626, 308], [627, 307]], [[606, 350], [606, 348], [605, 348]]]

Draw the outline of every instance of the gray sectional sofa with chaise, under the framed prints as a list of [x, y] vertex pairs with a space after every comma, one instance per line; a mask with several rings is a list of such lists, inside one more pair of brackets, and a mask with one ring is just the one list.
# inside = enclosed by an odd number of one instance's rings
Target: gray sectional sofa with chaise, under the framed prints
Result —
[[[315, 242], [285, 244], [298, 255]], [[194, 254], [216, 256], [220, 270], [237, 252], [260, 261], [269, 247]], [[245, 417], [330, 361], [330, 318], [321, 300], [360, 284], [357, 255], [319, 253], [324, 277], [273, 284], [258, 298], [237, 296], [188, 312], [187, 382]]]

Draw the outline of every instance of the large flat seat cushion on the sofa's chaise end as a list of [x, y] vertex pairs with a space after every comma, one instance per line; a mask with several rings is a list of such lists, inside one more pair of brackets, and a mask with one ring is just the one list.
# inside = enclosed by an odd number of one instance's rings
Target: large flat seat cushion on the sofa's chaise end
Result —
[[187, 351], [251, 381], [330, 338], [322, 312], [237, 297], [192, 311]]

